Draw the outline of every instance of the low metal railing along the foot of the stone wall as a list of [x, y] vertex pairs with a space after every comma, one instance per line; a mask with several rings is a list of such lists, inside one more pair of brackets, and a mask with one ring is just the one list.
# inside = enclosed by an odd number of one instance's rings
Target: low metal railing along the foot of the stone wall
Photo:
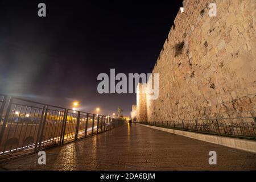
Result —
[[255, 117], [138, 122], [144, 125], [256, 140]]

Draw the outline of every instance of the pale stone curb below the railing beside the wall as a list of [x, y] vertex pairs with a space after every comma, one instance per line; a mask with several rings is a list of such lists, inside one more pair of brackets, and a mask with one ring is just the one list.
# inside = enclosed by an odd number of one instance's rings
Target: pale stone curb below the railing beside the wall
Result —
[[193, 133], [193, 132], [189, 132], [189, 131], [181, 131], [181, 130], [174, 130], [174, 129], [166, 129], [166, 128], [157, 127], [157, 126], [143, 125], [143, 124], [139, 124], [139, 123], [137, 123], [136, 125], [150, 127], [151, 129], [166, 131], [168, 133], [182, 135], [184, 137], [189, 137], [189, 138], [193, 138], [193, 139], [197, 139], [197, 140], [202, 140], [204, 142], [220, 144], [222, 146], [256, 153], [256, 141], [252, 141], [252, 140], [220, 137], [220, 136], [216, 136], [216, 135], [199, 134], [199, 133]]

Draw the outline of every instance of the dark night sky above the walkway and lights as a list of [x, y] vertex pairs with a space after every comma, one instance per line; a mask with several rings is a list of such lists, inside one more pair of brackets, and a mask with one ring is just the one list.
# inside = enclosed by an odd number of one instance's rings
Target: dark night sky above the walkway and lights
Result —
[[136, 95], [99, 94], [97, 76], [110, 68], [151, 73], [179, 7], [181, 0], [0, 1], [0, 93], [129, 115]]

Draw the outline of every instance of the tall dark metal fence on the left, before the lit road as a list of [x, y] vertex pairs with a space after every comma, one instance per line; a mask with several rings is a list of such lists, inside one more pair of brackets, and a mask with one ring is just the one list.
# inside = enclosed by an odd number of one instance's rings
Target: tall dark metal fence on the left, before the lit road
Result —
[[[7, 100], [8, 98], [8, 100]], [[122, 125], [121, 119], [0, 95], [0, 156], [38, 151]]]

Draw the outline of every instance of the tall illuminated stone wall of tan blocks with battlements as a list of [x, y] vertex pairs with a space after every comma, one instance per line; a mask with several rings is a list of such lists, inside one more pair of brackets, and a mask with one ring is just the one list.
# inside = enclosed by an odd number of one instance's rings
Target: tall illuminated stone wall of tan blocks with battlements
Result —
[[[210, 2], [217, 5], [216, 17], [208, 15]], [[159, 73], [158, 99], [137, 94], [139, 121], [251, 116], [256, 111], [255, 1], [183, 4], [152, 71]]]

